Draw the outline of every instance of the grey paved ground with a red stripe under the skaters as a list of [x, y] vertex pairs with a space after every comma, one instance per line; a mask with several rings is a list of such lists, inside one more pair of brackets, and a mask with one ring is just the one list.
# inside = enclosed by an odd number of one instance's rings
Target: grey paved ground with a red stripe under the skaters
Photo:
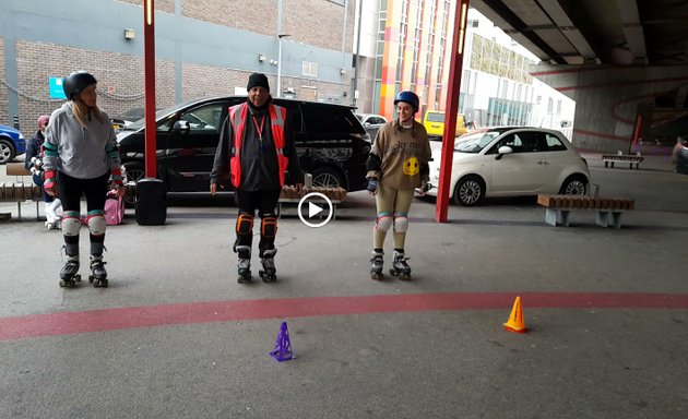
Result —
[[[601, 194], [636, 199], [621, 229], [585, 211], [550, 227], [533, 199], [439, 225], [417, 199], [412, 282], [369, 278], [360, 192], [318, 229], [287, 208], [280, 282], [248, 286], [226, 196], [110, 227], [108, 289], [59, 288], [60, 234], [2, 203], [0, 418], [685, 418], [688, 177], [586, 157]], [[517, 296], [525, 334], [502, 330]], [[280, 363], [283, 321], [296, 358]]]

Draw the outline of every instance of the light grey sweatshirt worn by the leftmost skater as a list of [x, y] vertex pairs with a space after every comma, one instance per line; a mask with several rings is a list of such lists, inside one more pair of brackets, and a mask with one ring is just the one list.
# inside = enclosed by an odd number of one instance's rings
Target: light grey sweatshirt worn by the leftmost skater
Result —
[[73, 103], [68, 101], [50, 116], [46, 143], [52, 148], [57, 147], [58, 155], [46, 153], [44, 168], [59, 170], [78, 179], [94, 179], [118, 169], [121, 163], [108, 116], [102, 112], [105, 122], [92, 117], [83, 127], [72, 112], [72, 106]]

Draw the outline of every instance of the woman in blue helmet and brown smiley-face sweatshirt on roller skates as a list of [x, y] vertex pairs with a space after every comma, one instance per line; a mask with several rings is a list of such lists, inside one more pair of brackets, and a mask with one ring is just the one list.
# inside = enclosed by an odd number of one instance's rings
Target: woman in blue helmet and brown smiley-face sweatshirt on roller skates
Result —
[[394, 98], [398, 119], [385, 123], [375, 137], [368, 161], [368, 192], [376, 197], [377, 216], [372, 230], [370, 277], [382, 278], [384, 237], [394, 235], [394, 259], [390, 274], [411, 279], [404, 251], [408, 229], [408, 210], [416, 188], [427, 190], [428, 161], [431, 156], [428, 133], [414, 119], [418, 96], [410, 91]]

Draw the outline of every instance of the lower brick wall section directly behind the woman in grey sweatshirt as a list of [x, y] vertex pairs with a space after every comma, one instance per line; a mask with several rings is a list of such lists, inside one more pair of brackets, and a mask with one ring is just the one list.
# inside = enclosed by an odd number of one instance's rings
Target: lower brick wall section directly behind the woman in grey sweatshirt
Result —
[[[33, 132], [38, 116], [49, 115], [63, 103], [50, 99], [48, 79], [67, 76], [76, 70], [88, 71], [96, 77], [98, 106], [110, 117], [143, 106], [142, 57], [25, 40], [17, 41], [16, 56], [20, 123], [25, 135]], [[174, 63], [156, 60], [155, 67], [156, 106], [171, 106], [175, 104]]]

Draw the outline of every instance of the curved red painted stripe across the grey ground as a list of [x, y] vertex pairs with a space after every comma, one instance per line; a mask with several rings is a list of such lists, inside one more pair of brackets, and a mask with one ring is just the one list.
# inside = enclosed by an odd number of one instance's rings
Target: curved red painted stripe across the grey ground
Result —
[[452, 292], [207, 301], [3, 318], [0, 340], [240, 320], [510, 309], [517, 296], [521, 296], [524, 309], [688, 309], [688, 295], [604, 292]]

